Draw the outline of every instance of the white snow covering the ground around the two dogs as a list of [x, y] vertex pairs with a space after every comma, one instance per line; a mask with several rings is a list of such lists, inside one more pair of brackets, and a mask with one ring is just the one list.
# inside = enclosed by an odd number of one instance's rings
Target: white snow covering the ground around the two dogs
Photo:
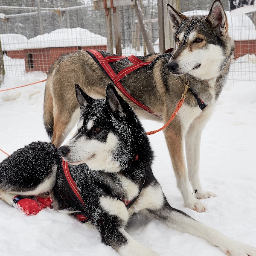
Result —
[[[255, 63], [254, 63], [255, 65]], [[38, 77], [36, 77], [38, 75]], [[238, 74], [239, 75], [239, 74]], [[46, 79], [7, 75], [0, 90]], [[44, 83], [0, 92], [0, 148], [11, 154], [32, 141], [49, 141], [43, 126]], [[154, 175], [172, 207], [225, 235], [256, 247], [256, 81], [227, 82], [201, 140], [201, 182], [216, 198], [202, 200], [207, 212], [183, 207], [163, 132], [150, 135]], [[146, 131], [159, 123], [143, 120]], [[0, 151], [0, 161], [6, 157]], [[0, 201], [0, 255], [117, 256], [101, 243], [98, 231], [53, 209], [26, 216]], [[195, 236], [169, 229], [157, 220], [135, 218], [128, 233], [161, 256], [225, 255]]]

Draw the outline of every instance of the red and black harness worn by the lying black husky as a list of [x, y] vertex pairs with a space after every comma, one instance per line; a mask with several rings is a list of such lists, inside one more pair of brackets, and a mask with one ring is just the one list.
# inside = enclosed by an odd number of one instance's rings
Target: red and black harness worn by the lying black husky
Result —
[[[134, 161], [136, 160], [137, 160], [137, 156]], [[79, 209], [79, 212], [74, 212], [73, 215], [75, 215], [76, 218], [83, 223], [90, 221], [91, 220], [90, 215], [86, 213], [86, 210], [84, 208], [85, 207], [84, 200], [81, 198], [79, 189], [76, 186], [76, 183], [73, 180], [72, 175], [70, 174], [68, 163], [64, 159], [62, 159], [62, 167], [63, 167], [64, 177], [67, 181], [66, 185], [69, 187], [69, 189], [67, 188], [69, 191], [69, 198], [71, 198], [71, 200], [73, 201], [73, 204], [76, 204], [76, 208]], [[108, 186], [105, 186], [102, 183], [98, 184], [98, 186], [106, 194], [111, 195], [111, 197], [116, 198], [119, 201], [122, 201], [125, 204], [126, 209], [129, 209], [132, 206], [132, 204], [136, 201], [138, 196], [140, 195], [140, 192], [143, 189], [144, 183], [145, 183], [145, 176], [140, 181], [139, 192], [137, 197], [133, 198], [133, 200], [131, 201], [123, 200], [119, 195], [113, 192], [113, 190], [109, 189]]]

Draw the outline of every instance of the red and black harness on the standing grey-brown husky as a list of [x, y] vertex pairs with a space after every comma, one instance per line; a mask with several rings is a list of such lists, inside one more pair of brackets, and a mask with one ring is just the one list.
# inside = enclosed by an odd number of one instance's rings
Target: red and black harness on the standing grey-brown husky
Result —
[[[131, 102], [134, 102], [137, 106], [140, 108], [143, 108], [145, 111], [148, 111], [149, 113], [157, 116], [157, 114], [154, 113], [153, 110], [145, 106], [143, 103], [139, 102], [137, 99], [135, 99], [131, 94], [125, 90], [125, 88], [122, 86], [120, 80], [124, 77], [127, 76], [129, 73], [131, 73], [134, 70], [137, 70], [140, 67], [147, 66], [148, 64], [151, 64], [151, 61], [144, 62], [137, 58], [134, 55], [131, 55], [129, 57], [123, 56], [123, 55], [109, 55], [104, 57], [101, 52], [98, 50], [89, 50], [87, 51], [91, 57], [94, 59], [94, 61], [101, 67], [101, 69], [105, 72], [105, 74], [113, 81], [113, 83], [116, 85], [116, 87], [128, 98], [131, 100]], [[125, 69], [119, 71], [118, 73], [114, 70], [114, 67], [111, 65], [111, 63], [115, 61], [120, 61], [121, 59], [127, 58], [133, 65], [126, 67]], [[191, 93], [194, 95], [195, 99], [198, 102], [199, 108], [202, 110], [207, 106], [199, 97], [198, 95], [190, 88]]]

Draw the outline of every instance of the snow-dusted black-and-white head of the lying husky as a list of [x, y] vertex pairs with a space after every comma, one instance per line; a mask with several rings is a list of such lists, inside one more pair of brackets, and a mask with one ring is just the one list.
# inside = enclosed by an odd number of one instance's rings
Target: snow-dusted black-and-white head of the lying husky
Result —
[[60, 148], [62, 157], [93, 170], [122, 171], [148, 144], [131, 106], [112, 84], [107, 86], [106, 99], [93, 99], [76, 84], [76, 97], [81, 108], [78, 132]]

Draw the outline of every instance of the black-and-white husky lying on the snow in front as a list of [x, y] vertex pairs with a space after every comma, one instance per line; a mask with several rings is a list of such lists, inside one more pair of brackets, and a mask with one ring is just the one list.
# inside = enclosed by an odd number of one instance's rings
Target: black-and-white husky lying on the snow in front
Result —
[[27, 196], [51, 192], [56, 210], [90, 221], [102, 242], [124, 256], [159, 255], [125, 231], [137, 212], [204, 238], [228, 255], [256, 256], [255, 248], [169, 205], [151, 170], [148, 137], [113, 85], [108, 85], [106, 99], [93, 99], [76, 85], [76, 97], [81, 108], [78, 132], [60, 148], [66, 162], [51, 143], [31, 143], [14, 152], [0, 164], [0, 197], [6, 203], [24, 210], [25, 200], [37, 204]]

